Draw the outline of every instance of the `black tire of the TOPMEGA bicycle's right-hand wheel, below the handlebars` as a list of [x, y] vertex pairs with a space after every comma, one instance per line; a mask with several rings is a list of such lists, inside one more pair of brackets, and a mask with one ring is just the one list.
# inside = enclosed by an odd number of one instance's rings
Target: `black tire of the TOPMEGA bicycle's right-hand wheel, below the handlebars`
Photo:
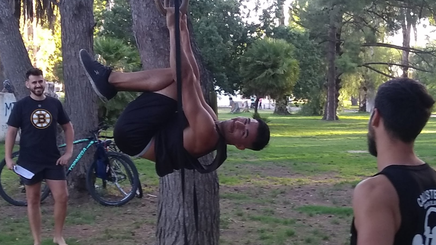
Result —
[[139, 186], [138, 170], [137, 170], [135, 164], [133, 163], [132, 159], [130, 159], [130, 157], [127, 157], [125, 154], [118, 153], [118, 152], [111, 152], [111, 151], [109, 151], [107, 153], [108, 153], [109, 160], [111, 158], [121, 160], [120, 163], [122, 165], [124, 165], [125, 169], [127, 169], [127, 171], [129, 169], [132, 171], [131, 174], [133, 174], [133, 185], [132, 185], [132, 189], [131, 189], [130, 193], [127, 195], [127, 197], [125, 197], [124, 199], [122, 199], [120, 201], [107, 201], [107, 200], [101, 199], [100, 196], [95, 192], [94, 183], [93, 183], [94, 166], [95, 166], [96, 162], [93, 162], [93, 164], [90, 164], [90, 166], [88, 168], [87, 175], [86, 175], [86, 186], [88, 188], [88, 192], [91, 195], [91, 197], [93, 197], [93, 199], [96, 200], [101, 205], [112, 206], [112, 207], [123, 206], [124, 204], [129, 202], [131, 199], [133, 199], [136, 195], [136, 190], [138, 189], [138, 186]]

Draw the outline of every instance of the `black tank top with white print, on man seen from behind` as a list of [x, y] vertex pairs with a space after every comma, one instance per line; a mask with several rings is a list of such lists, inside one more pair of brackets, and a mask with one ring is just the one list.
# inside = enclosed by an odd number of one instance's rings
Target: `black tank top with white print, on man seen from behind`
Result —
[[[436, 245], [435, 170], [428, 164], [391, 165], [379, 174], [393, 184], [400, 201], [401, 224], [394, 245]], [[357, 236], [353, 218], [351, 245], [357, 245]]]

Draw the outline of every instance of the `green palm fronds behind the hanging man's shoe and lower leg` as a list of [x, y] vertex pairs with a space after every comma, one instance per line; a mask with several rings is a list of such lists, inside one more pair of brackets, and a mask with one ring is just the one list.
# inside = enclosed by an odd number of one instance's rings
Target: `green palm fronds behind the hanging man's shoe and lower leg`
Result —
[[[94, 52], [97, 60], [112, 67], [114, 71], [139, 71], [141, 67], [138, 50], [126, 45], [123, 40], [113, 37], [98, 37], [94, 39]], [[138, 92], [118, 92], [108, 103], [98, 103], [99, 121], [112, 125], [129, 102], [139, 95]]]

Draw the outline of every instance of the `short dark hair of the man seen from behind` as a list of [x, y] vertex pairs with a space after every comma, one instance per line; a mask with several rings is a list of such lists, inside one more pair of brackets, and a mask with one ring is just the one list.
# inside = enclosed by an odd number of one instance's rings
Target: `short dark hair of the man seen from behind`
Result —
[[427, 124], [434, 104], [423, 84], [409, 78], [395, 78], [380, 85], [374, 108], [392, 137], [411, 143]]

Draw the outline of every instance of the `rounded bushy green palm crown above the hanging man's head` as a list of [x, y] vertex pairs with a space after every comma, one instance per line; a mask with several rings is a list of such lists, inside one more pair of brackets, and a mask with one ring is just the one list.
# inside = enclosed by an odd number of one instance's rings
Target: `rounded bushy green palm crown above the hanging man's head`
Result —
[[294, 50], [282, 39], [256, 40], [241, 56], [243, 93], [279, 98], [292, 92], [300, 72]]

